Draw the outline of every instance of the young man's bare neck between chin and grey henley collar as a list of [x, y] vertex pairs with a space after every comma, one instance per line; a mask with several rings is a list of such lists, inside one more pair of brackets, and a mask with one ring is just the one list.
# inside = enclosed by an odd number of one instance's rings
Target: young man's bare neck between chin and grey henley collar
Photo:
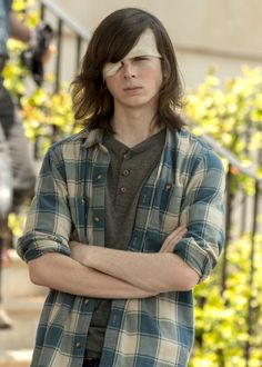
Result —
[[144, 111], [130, 111], [121, 113], [115, 110], [112, 118], [112, 127], [115, 132], [115, 139], [132, 148], [149, 137], [160, 131], [160, 127], [154, 122], [153, 113]]

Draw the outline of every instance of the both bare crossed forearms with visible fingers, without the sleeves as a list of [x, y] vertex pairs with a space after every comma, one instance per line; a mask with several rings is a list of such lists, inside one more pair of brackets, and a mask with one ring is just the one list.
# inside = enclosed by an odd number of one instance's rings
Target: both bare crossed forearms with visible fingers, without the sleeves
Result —
[[158, 254], [141, 254], [70, 242], [71, 257], [46, 254], [29, 261], [32, 282], [97, 298], [145, 298], [172, 290], [190, 290], [198, 274], [172, 254], [185, 234], [175, 229]]

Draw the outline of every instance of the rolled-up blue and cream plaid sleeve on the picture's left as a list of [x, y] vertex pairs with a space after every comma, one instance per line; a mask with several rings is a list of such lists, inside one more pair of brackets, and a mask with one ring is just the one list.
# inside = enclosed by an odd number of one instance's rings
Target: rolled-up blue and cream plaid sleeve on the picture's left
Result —
[[18, 240], [18, 254], [26, 260], [47, 252], [70, 255], [71, 216], [68, 205], [64, 165], [50, 150], [44, 157], [36, 196], [27, 217], [23, 236]]

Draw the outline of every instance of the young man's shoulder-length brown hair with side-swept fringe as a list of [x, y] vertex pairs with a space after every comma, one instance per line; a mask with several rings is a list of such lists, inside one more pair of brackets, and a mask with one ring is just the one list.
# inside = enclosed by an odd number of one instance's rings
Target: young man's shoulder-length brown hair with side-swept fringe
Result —
[[104, 18], [89, 42], [80, 72], [72, 81], [74, 118], [84, 126], [111, 130], [113, 98], [105, 88], [102, 69], [107, 62], [123, 59], [148, 28], [153, 31], [162, 56], [163, 83], [155, 121], [174, 129], [182, 127], [177, 113], [182, 105], [182, 87], [172, 42], [158, 18], [137, 8], [120, 9]]

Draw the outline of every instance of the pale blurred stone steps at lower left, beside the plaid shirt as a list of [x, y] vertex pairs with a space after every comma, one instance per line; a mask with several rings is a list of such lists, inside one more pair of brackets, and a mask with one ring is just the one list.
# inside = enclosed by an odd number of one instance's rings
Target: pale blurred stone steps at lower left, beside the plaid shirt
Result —
[[0, 329], [0, 367], [29, 367], [47, 290], [31, 285], [27, 266], [13, 254], [3, 269], [3, 307], [11, 329]]

